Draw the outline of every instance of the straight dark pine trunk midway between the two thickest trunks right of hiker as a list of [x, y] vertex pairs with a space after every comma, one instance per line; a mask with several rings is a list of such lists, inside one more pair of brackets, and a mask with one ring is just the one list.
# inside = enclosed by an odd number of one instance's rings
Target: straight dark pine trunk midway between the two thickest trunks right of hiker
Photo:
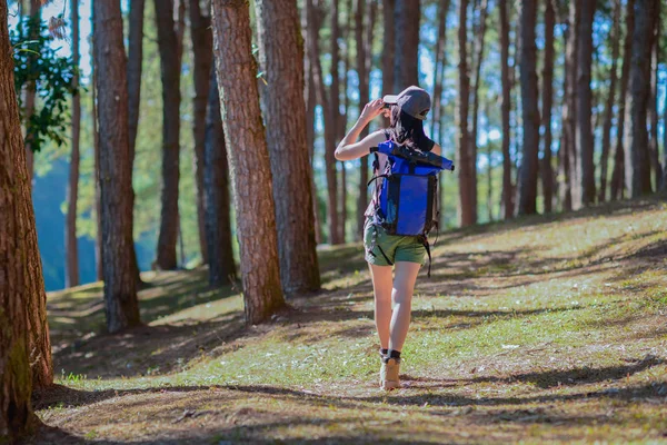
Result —
[[593, 66], [593, 19], [596, 2], [581, 2], [577, 37], [577, 159], [579, 165], [579, 194], [575, 196], [575, 209], [595, 204], [595, 164], [591, 128], [593, 91], [590, 89]]

